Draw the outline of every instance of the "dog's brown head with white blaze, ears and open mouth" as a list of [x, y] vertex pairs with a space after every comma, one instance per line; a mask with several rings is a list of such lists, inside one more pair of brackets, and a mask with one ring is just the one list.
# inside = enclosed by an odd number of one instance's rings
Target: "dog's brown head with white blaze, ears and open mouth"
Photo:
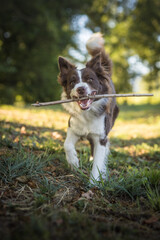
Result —
[[[87, 62], [86, 67], [78, 70], [63, 57], [59, 57], [59, 83], [63, 86], [68, 99], [108, 92], [106, 71], [98, 54]], [[93, 99], [78, 101], [82, 110], [90, 108]]]

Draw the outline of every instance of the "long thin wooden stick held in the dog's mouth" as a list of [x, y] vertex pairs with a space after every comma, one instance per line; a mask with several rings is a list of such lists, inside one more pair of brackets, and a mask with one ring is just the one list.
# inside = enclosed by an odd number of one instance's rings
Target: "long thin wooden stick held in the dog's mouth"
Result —
[[128, 93], [128, 94], [102, 94], [102, 95], [88, 95], [87, 97], [82, 98], [76, 98], [76, 99], [65, 99], [65, 100], [58, 100], [53, 102], [36, 102], [32, 104], [34, 107], [43, 107], [43, 106], [49, 106], [49, 105], [56, 105], [56, 104], [62, 104], [62, 103], [70, 103], [70, 102], [78, 102], [82, 100], [87, 99], [100, 99], [100, 98], [112, 98], [112, 97], [151, 97], [153, 94], [145, 93], [145, 94], [137, 94], [137, 93]]

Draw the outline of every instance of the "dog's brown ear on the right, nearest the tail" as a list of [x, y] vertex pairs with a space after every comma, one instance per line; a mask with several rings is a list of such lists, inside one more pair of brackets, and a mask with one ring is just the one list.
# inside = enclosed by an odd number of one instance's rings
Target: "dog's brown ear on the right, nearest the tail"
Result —
[[86, 67], [93, 69], [96, 73], [101, 73], [101, 53], [98, 53], [89, 62], [87, 62]]

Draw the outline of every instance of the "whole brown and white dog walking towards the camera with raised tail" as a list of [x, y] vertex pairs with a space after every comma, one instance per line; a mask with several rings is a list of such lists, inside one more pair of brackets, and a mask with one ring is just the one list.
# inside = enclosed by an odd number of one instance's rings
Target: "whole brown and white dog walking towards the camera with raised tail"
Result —
[[[111, 80], [112, 63], [105, 53], [101, 33], [93, 34], [87, 41], [86, 47], [92, 58], [81, 70], [65, 58], [59, 57], [58, 81], [63, 86], [62, 99], [115, 93]], [[119, 112], [115, 98], [89, 99], [63, 105], [71, 116], [64, 143], [68, 163], [71, 167], [79, 167], [75, 144], [80, 138], [86, 137], [91, 144], [93, 154], [90, 183], [99, 180], [100, 176], [105, 179], [109, 154], [107, 136]]]

